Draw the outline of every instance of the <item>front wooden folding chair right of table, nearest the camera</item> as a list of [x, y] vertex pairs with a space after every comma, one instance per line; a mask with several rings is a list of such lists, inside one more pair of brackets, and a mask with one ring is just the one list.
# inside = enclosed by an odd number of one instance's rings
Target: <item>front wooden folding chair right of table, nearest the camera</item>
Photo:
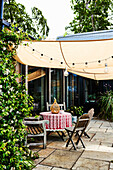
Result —
[[77, 123], [75, 123], [75, 126], [65, 128], [65, 130], [67, 131], [67, 134], [69, 136], [69, 139], [66, 143], [66, 147], [68, 147], [69, 143], [71, 142], [74, 149], [76, 150], [75, 143], [72, 140], [72, 137], [75, 135], [78, 137], [76, 145], [78, 145], [79, 141], [81, 141], [83, 148], [85, 148], [85, 145], [84, 145], [81, 137], [84, 134], [84, 131], [87, 127], [88, 122], [89, 122], [89, 118], [80, 119], [80, 117], [79, 117], [77, 120]]

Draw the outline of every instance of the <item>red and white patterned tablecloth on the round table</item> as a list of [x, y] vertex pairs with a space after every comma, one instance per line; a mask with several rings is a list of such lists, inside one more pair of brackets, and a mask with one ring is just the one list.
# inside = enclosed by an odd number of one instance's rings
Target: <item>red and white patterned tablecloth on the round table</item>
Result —
[[52, 114], [51, 112], [41, 112], [44, 120], [49, 120], [46, 129], [49, 131], [64, 130], [66, 127], [72, 126], [72, 116], [70, 113], [63, 112]]

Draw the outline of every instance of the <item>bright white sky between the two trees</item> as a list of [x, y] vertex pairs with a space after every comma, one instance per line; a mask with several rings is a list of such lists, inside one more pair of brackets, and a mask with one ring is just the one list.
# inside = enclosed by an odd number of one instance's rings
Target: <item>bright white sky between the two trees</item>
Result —
[[16, 2], [23, 4], [29, 14], [34, 6], [42, 11], [50, 28], [48, 39], [63, 36], [65, 27], [74, 18], [70, 0], [16, 0]]

